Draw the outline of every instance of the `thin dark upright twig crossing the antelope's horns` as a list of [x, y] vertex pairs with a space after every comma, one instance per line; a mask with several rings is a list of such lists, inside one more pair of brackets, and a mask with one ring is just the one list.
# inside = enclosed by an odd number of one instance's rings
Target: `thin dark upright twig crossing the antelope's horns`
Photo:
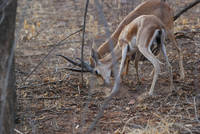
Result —
[[84, 13], [84, 20], [83, 20], [83, 35], [82, 35], [82, 45], [81, 45], [81, 80], [82, 80], [82, 85], [83, 85], [83, 67], [84, 67], [84, 57], [83, 57], [83, 51], [84, 51], [84, 42], [85, 42], [85, 27], [86, 27], [86, 17], [87, 17], [87, 11], [88, 11], [88, 5], [89, 5], [89, 0], [86, 1], [85, 5], [85, 13]]

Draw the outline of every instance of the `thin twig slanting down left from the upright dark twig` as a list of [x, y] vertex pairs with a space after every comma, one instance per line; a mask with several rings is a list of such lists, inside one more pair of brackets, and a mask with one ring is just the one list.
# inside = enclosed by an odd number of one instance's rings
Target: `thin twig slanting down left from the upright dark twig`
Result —
[[38, 67], [44, 62], [44, 60], [56, 49], [57, 46], [61, 46], [63, 44], [63, 41], [65, 41], [66, 39], [68, 39], [69, 37], [79, 33], [80, 31], [82, 31], [82, 28], [71, 33], [70, 35], [68, 35], [67, 37], [65, 37], [64, 39], [62, 39], [61, 41], [59, 41], [57, 44], [53, 45], [53, 48], [48, 52], [48, 54], [37, 64], [37, 66], [28, 74], [28, 76], [26, 76], [26, 78], [23, 80], [22, 83], [25, 83], [27, 81], [27, 79], [33, 74], [33, 72], [35, 72]]

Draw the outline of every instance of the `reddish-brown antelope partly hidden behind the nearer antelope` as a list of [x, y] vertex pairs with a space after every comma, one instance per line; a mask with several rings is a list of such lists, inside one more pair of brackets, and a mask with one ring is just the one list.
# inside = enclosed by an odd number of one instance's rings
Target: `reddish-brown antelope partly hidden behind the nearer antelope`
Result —
[[[100, 47], [97, 50], [98, 57], [101, 59], [107, 53], [109, 53], [110, 52], [109, 42], [112, 42], [113, 46], [115, 47], [119, 40], [119, 35], [123, 31], [124, 27], [126, 27], [126, 25], [128, 25], [130, 22], [132, 22], [134, 19], [136, 19], [137, 17], [141, 15], [155, 15], [165, 25], [167, 37], [169, 38], [169, 40], [172, 41], [172, 44], [175, 46], [179, 54], [180, 79], [184, 79], [185, 75], [184, 75], [184, 68], [183, 68], [183, 54], [173, 34], [173, 31], [174, 31], [173, 10], [169, 7], [168, 3], [165, 2], [165, 0], [147, 0], [146, 2], [137, 6], [135, 10], [130, 12], [121, 21], [121, 23], [119, 24], [117, 29], [114, 31], [114, 33], [111, 35], [111, 37], [108, 40], [106, 40], [102, 45], [100, 45]], [[136, 74], [139, 80], [138, 61], [139, 59], [141, 59], [141, 54], [137, 52], [137, 54], [134, 57], [135, 57]], [[89, 58], [89, 61], [90, 61], [90, 66], [95, 67], [94, 60], [91, 56]], [[127, 59], [125, 63], [125, 71], [123, 72], [124, 75], [128, 73], [129, 62], [130, 60]]]

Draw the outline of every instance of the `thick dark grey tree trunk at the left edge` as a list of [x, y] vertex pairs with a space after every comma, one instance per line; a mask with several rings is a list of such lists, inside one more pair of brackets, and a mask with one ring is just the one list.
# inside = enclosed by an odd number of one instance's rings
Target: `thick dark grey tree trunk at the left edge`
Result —
[[[3, 2], [0, 3], [2, 5]], [[0, 9], [0, 134], [14, 133], [16, 86], [14, 66], [14, 37], [17, 0], [12, 0], [4, 11]]]

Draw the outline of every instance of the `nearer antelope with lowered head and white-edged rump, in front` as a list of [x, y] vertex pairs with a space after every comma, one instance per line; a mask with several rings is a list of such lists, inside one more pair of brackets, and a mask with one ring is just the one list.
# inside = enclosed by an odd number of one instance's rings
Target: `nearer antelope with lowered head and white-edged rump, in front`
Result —
[[[160, 61], [153, 55], [151, 47], [154, 44], [161, 46], [161, 51], [165, 57], [168, 72], [170, 74], [170, 89], [173, 89], [172, 67], [168, 61], [165, 48], [165, 36], [167, 30], [162, 21], [154, 15], [141, 15], [126, 25], [121, 31], [117, 45], [112, 50], [116, 60], [121, 59], [118, 77], [122, 75], [125, 61], [139, 51], [154, 66], [154, 77], [149, 91], [149, 95], [153, 94], [155, 83], [160, 73]], [[94, 72], [103, 77], [106, 83], [110, 82], [110, 75], [113, 62], [112, 55], [109, 53], [105, 57], [99, 59], [97, 52], [92, 49], [91, 57], [94, 61]]]

